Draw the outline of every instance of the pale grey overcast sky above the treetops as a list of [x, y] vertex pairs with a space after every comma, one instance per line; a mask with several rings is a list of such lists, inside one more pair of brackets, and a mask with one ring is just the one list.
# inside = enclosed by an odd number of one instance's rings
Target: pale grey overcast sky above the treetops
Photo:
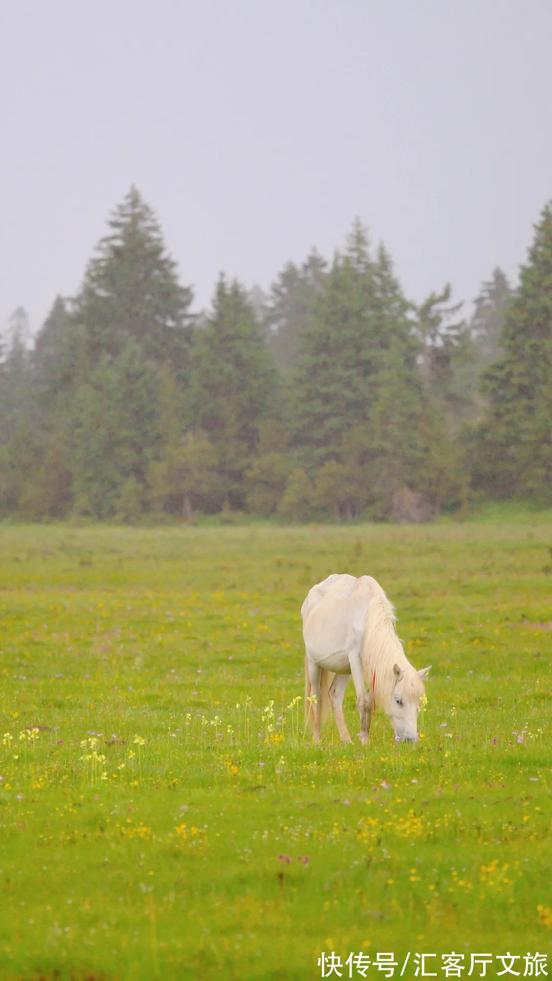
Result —
[[135, 182], [196, 308], [355, 215], [408, 296], [516, 279], [552, 197], [552, 0], [0, 0], [0, 322]]

